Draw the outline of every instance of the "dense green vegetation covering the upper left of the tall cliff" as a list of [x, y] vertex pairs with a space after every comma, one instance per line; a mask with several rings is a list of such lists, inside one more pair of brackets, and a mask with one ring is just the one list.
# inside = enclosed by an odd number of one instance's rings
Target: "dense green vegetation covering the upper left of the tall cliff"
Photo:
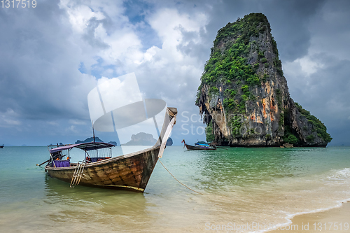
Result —
[[[200, 92], [203, 84], [209, 86], [209, 97], [218, 94], [218, 83], [221, 85], [241, 86], [244, 94], [237, 96], [237, 91], [229, 88], [225, 91], [223, 106], [228, 111], [246, 113], [246, 101], [256, 98], [249, 92], [249, 87], [260, 86], [262, 78], [255, 73], [259, 64], [253, 66], [248, 64], [246, 57], [255, 48], [258, 52], [261, 63], [267, 62], [262, 51], [258, 50], [256, 41], [251, 41], [251, 36], [258, 37], [264, 31], [271, 31], [269, 22], [265, 15], [252, 13], [237, 22], [228, 23], [218, 31], [214, 41], [214, 48], [211, 48], [211, 57], [204, 66], [202, 84], [198, 88], [196, 104], [199, 103]], [[251, 41], [251, 42], [250, 42]], [[223, 47], [225, 43], [225, 48]], [[264, 76], [266, 79], [266, 76]], [[235, 92], [233, 92], [235, 91]]]

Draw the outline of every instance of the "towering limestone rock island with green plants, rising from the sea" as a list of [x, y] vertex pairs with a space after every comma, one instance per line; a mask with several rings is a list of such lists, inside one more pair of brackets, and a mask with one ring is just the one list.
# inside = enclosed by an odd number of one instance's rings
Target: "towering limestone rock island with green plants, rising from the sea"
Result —
[[251, 13], [218, 31], [196, 105], [207, 141], [230, 146], [325, 147], [323, 123], [290, 98], [265, 15]]

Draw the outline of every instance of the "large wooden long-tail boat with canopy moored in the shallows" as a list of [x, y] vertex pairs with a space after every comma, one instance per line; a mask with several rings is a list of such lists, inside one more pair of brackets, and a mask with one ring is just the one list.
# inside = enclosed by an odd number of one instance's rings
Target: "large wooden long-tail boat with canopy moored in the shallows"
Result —
[[[165, 144], [176, 122], [176, 115], [176, 108], [167, 108], [160, 136], [151, 148], [112, 157], [111, 148], [114, 145], [109, 143], [91, 142], [61, 146], [50, 150], [50, 160], [45, 166], [45, 171], [52, 178], [71, 183], [71, 187], [84, 185], [144, 192], [158, 158], [162, 157]], [[71, 163], [65, 156], [69, 157], [72, 148], [84, 150], [86, 160]], [[110, 153], [104, 157], [90, 157], [89, 153], [92, 152], [100, 156], [101, 153], [98, 151], [101, 149], [110, 150]]]

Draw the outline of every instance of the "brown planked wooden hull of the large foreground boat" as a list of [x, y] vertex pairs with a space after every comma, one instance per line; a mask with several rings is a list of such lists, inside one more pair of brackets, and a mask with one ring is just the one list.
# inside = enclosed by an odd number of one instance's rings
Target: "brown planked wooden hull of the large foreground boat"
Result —
[[[79, 185], [144, 192], [158, 161], [160, 146], [86, 164]], [[45, 167], [48, 175], [71, 183], [76, 166]]]

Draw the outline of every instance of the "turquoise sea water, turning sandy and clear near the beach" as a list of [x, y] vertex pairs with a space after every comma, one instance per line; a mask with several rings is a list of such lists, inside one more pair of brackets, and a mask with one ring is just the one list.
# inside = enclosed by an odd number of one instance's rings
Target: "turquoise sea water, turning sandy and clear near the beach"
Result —
[[[71, 157], [78, 161], [83, 154]], [[69, 188], [36, 166], [48, 159], [46, 147], [6, 147], [0, 159], [1, 232], [204, 232], [213, 224], [281, 225], [297, 213], [350, 199], [349, 147], [168, 146], [163, 164], [203, 195], [177, 183], [159, 162], [140, 194]]]

